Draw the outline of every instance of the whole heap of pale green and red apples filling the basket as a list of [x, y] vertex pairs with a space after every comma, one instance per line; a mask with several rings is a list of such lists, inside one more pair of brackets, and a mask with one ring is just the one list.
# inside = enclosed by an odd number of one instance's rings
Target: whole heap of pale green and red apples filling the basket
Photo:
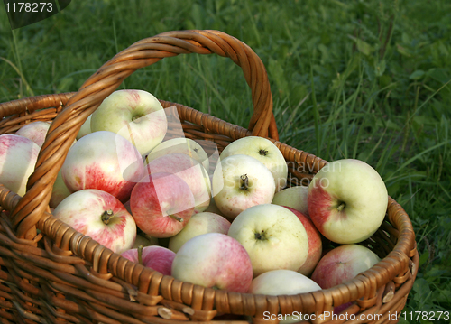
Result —
[[[0, 183], [24, 194], [49, 127], [0, 135]], [[107, 97], [69, 149], [54, 217], [133, 262], [231, 292], [327, 289], [380, 261], [358, 245], [381, 226], [388, 202], [367, 163], [330, 162], [308, 186], [286, 188], [288, 165], [271, 141], [244, 137], [212, 161], [196, 141], [166, 139], [168, 128], [150, 93]]]

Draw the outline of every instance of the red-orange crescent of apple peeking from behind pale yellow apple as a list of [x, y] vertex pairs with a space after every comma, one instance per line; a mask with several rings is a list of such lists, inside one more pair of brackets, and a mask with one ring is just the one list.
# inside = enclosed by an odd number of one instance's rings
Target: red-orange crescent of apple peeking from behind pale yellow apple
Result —
[[290, 208], [288, 206], [285, 206], [285, 208], [288, 208], [290, 211], [292, 211], [294, 215], [299, 218], [302, 225], [306, 229], [308, 237], [308, 256], [306, 262], [302, 264], [298, 269], [298, 273], [310, 275], [311, 273], [313, 273], [313, 270], [317, 266], [318, 261], [322, 255], [323, 243], [321, 235], [319, 234], [317, 227], [315, 227], [313, 222], [308, 217], [294, 208]]

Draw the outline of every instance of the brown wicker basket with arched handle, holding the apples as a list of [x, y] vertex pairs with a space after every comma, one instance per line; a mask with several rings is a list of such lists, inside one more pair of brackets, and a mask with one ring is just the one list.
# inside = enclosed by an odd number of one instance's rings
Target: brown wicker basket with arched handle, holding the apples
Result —
[[14, 134], [33, 121], [53, 120], [23, 198], [0, 185], [0, 322], [277, 323], [267, 320], [267, 314], [327, 314], [349, 301], [355, 302], [346, 310], [346, 319], [323, 317], [301, 323], [397, 322], [396, 312], [400, 315], [417, 274], [418, 253], [410, 219], [391, 198], [382, 227], [364, 242], [383, 258], [380, 263], [352, 282], [292, 296], [225, 292], [179, 282], [125, 260], [51, 216], [52, 185], [87, 116], [136, 69], [185, 53], [232, 59], [243, 69], [254, 106], [249, 129], [244, 129], [161, 101], [165, 108], [177, 107], [186, 137], [211, 141], [219, 150], [251, 134], [269, 137], [290, 162], [292, 184], [311, 178], [327, 163], [278, 142], [262, 61], [223, 32], [164, 32], [118, 53], [77, 93], [0, 104], [0, 134]]

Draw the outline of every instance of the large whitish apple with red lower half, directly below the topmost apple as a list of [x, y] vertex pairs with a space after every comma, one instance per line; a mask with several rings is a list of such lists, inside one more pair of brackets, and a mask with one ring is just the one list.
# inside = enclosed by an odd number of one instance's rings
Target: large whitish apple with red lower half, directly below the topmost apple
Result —
[[69, 191], [98, 189], [122, 202], [144, 175], [143, 159], [119, 134], [100, 131], [80, 138], [68, 152], [61, 175]]

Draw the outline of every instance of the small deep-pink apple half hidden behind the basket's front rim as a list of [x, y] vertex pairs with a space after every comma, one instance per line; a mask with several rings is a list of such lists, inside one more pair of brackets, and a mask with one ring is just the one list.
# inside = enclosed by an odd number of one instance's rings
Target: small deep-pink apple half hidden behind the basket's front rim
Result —
[[142, 250], [133, 248], [124, 251], [121, 255], [135, 264], [143, 264], [164, 275], [170, 275], [175, 257], [175, 253], [170, 249], [158, 245], [144, 246]]

